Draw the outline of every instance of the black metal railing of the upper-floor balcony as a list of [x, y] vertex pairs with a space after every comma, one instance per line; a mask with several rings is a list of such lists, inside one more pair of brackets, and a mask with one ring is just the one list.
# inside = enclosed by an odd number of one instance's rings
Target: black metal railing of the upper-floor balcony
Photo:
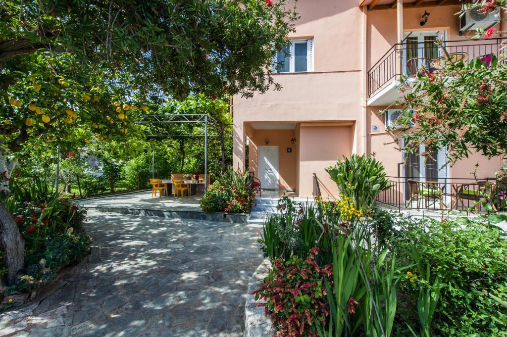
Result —
[[[507, 42], [507, 38], [449, 40], [444, 41], [442, 46], [454, 61], [469, 62], [480, 58], [489, 65], [493, 55], [498, 57], [502, 53], [502, 42]], [[434, 40], [395, 44], [368, 71], [368, 96], [404, 73], [415, 74], [422, 66], [431, 69], [438, 63], [445, 64], [447, 58], [442, 50]]]

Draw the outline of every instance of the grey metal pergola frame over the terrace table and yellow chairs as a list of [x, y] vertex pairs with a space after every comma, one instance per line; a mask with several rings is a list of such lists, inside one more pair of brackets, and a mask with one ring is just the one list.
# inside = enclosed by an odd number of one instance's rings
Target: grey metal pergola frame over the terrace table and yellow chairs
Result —
[[[134, 122], [136, 124], [197, 124], [200, 128], [194, 129], [192, 134], [186, 134], [185, 130], [180, 130], [178, 134], [157, 133], [147, 129], [148, 138], [173, 138], [173, 137], [204, 137], [204, 190], [208, 187], [208, 137], [222, 138], [222, 161], [224, 160], [224, 123], [217, 121], [208, 114], [163, 114], [163, 115], [141, 115], [141, 118]], [[208, 125], [220, 130], [218, 134], [208, 134]], [[152, 159], [152, 175], [154, 174], [155, 158]]]

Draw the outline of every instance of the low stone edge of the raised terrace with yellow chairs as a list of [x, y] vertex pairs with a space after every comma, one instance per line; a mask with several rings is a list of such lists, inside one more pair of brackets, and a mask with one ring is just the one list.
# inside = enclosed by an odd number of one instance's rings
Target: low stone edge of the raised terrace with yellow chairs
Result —
[[194, 219], [207, 221], [222, 221], [234, 223], [248, 223], [248, 214], [232, 214], [232, 213], [206, 213], [200, 211], [179, 211], [179, 210], [162, 210], [162, 209], [136, 209], [126, 207], [87, 207], [95, 209], [99, 212], [115, 212], [123, 214], [135, 214], [145, 216], [160, 216], [179, 219]]

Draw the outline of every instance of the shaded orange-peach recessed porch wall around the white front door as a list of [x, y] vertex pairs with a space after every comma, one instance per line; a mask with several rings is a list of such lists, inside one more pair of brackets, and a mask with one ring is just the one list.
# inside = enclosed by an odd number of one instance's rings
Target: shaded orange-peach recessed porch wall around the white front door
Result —
[[[252, 130], [248, 132], [250, 144], [248, 147], [248, 170], [255, 172], [258, 177], [258, 147], [266, 145], [266, 139], [269, 140], [269, 146], [278, 146], [278, 188], [282, 190], [296, 191], [296, 157], [297, 142], [291, 143], [295, 138], [295, 130]], [[287, 147], [292, 148], [292, 152], [287, 152]]]

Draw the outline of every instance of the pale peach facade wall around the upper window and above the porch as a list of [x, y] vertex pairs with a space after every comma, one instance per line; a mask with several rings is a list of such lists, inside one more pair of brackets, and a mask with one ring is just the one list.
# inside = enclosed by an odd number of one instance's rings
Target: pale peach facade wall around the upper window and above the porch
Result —
[[[234, 166], [244, 162], [248, 122], [356, 121], [362, 128], [361, 8], [356, 0], [299, 0], [297, 10], [301, 18], [291, 38], [313, 38], [314, 72], [274, 74], [281, 91], [234, 97]], [[363, 153], [362, 132], [354, 134], [354, 150]]]

